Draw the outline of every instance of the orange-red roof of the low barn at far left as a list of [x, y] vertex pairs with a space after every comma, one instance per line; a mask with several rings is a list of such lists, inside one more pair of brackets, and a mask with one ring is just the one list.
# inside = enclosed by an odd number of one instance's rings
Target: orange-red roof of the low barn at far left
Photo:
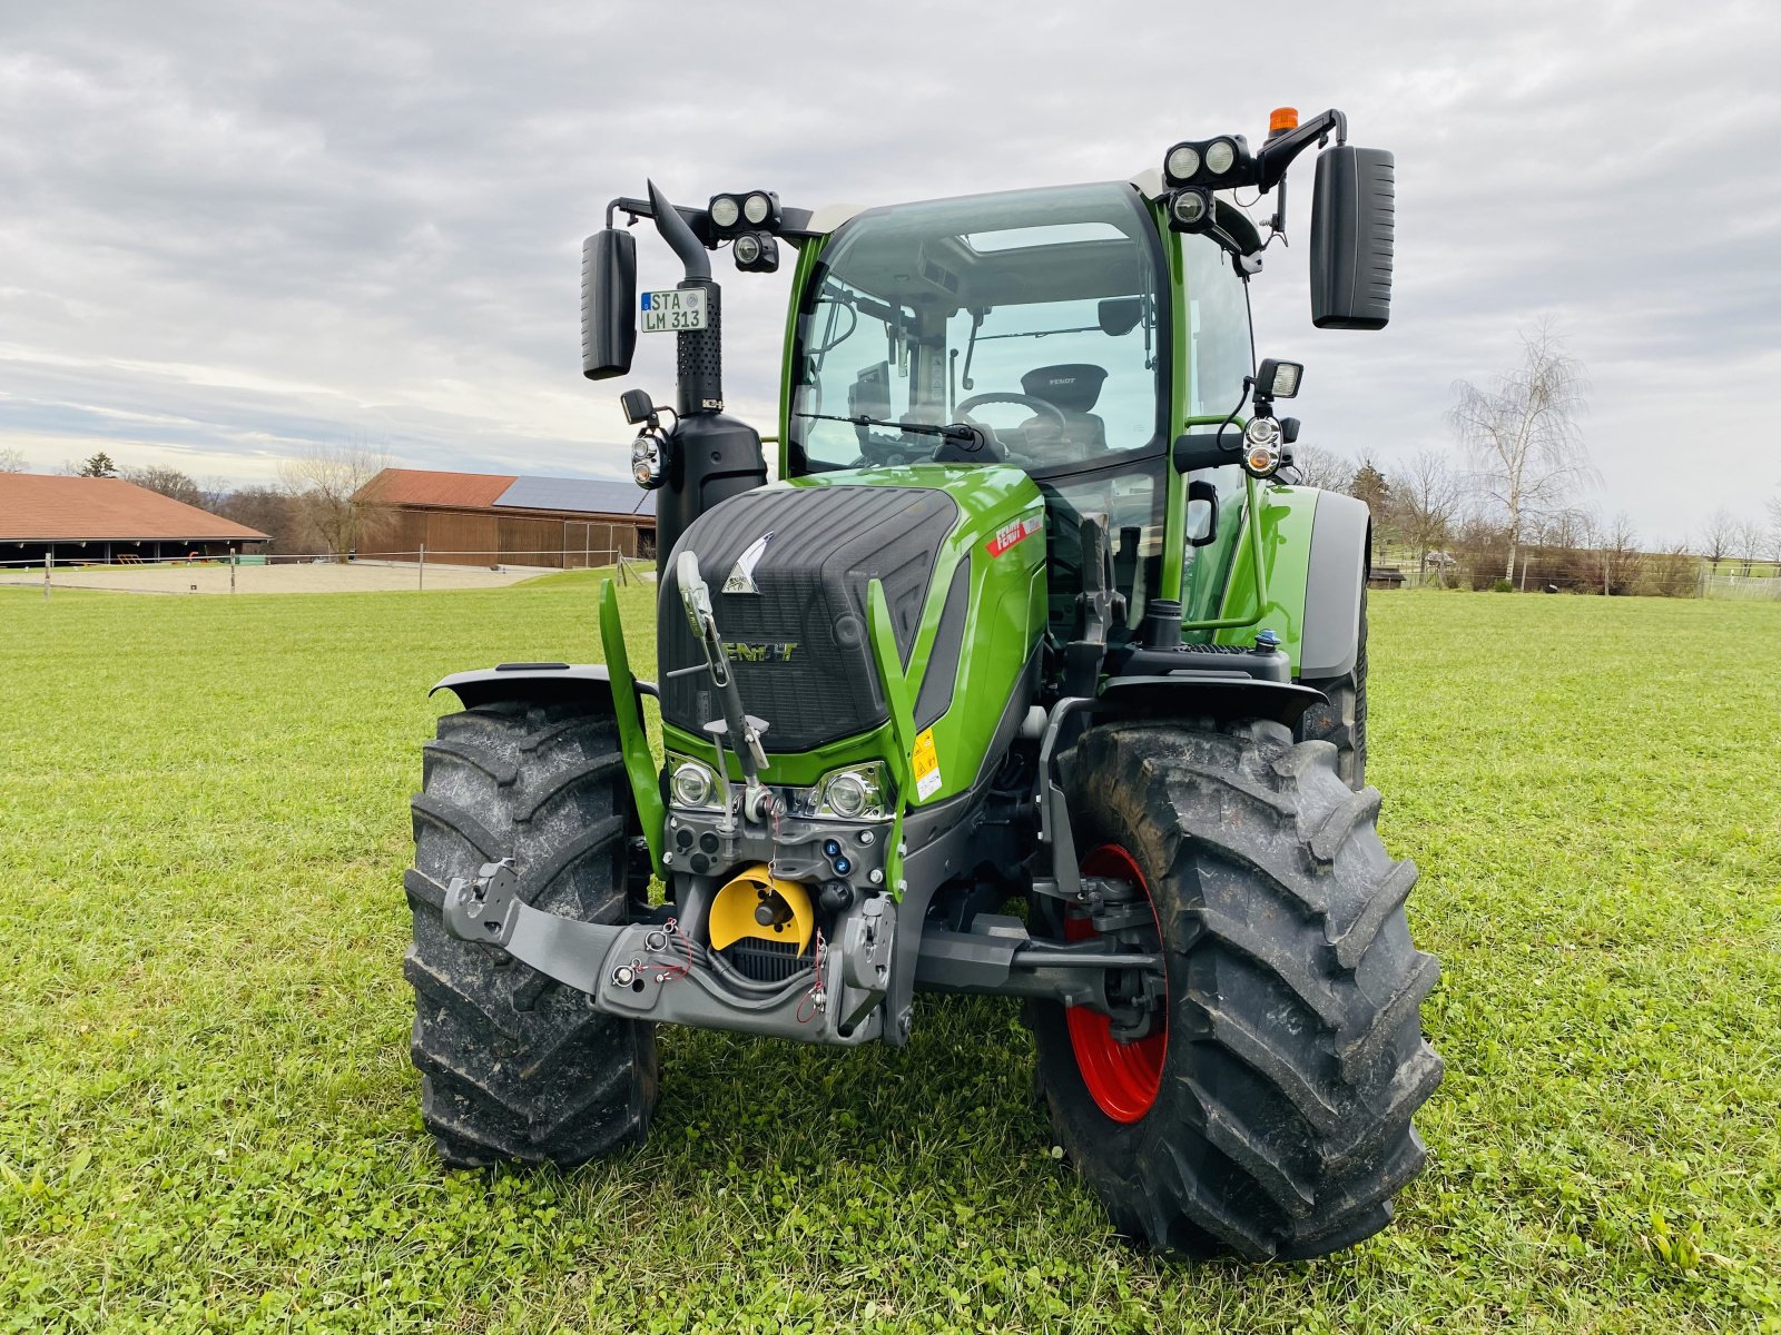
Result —
[[121, 477], [0, 473], [0, 541], [264, 543], [267, 534]]

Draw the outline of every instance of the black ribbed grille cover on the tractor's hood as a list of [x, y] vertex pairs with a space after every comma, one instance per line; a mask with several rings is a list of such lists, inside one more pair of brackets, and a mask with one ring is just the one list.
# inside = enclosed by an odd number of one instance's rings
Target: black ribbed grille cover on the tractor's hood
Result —
[[[698, 516], [663, 566], [657, 657], [663, 717], [702, 732], [720, 714], [680, 603], [675, 562], [698, 554], [743, 707], [768, 721], [768, 751], [809, 751], [871, 732], [890, 717], [867, 637], [866, 589], [883, 584], [907, 669], [940, 543], [958, 523], [944, 491], [805, 486], [750, 491]], [[737, 559], [773, 534], [753, 562], [759, 593], [723, 593]]]

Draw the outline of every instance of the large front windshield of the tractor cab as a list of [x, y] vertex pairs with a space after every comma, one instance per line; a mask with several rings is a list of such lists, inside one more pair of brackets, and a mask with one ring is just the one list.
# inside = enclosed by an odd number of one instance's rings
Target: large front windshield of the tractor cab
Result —
[[791, 470], [972, 457], [931, 431], [949, 424], [1040, 477], [1161, 449], [1161, 263], [1126, 183], [860, 214], [798, 312]]

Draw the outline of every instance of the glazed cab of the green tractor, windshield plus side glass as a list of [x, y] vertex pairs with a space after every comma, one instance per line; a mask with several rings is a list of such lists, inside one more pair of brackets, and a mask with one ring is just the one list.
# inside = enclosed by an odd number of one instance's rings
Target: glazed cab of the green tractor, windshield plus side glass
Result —
[[800, 265], [794, 297], [782, 473], [1019, 468], [1045, 497], [1054, 628], [1092, 514], [1126, 607], [1111, 634], [1129, 635], [1163, 580], [1179, 417], [1227, 411], [1250, 372], [1234, 258], [1102, 182], [866, 210]]

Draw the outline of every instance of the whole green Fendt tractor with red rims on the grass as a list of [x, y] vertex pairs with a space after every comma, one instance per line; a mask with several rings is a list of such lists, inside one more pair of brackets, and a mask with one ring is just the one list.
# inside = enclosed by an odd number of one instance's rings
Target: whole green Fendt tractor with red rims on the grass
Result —
[[[445, 1162], [641, 1141], [659, 1024], [903, 1045], [960, 991], [1024, 999], [1120, 1234], [1295, 1258], [1389, 1221], [1439, 968], [1362, 781], [1368, 511], [1277, 475], [1302, 367], [1248, 317], [1311, 144], [1313, 322], [1377, 329], [1393, 162], [1334, 110], [1095, 185], [607, 206], [582, 368], [627, 374], [639, 317], [679, 352], [673, 409], [623, 395], [659, 664], [607, 586], [604, 664], [435, 687], [406, 975]], [[618, 215], [684, 279], [639, 292]], [[796, 255], [773, 482], [723, 411], [723, 246]]]

